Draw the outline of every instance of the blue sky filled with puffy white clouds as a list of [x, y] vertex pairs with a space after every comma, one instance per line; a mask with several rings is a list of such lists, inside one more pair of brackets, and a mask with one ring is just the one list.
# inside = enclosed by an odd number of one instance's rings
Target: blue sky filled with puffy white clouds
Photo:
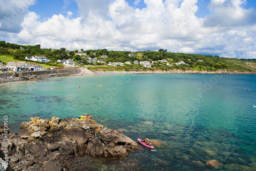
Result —
[[0, 0], [0, 40], [256, 58], [253, 0]]

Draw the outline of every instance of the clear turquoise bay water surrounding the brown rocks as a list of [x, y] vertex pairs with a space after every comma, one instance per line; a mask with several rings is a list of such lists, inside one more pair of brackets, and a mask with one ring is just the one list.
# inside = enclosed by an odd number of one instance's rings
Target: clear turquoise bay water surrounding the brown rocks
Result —
[[255, 82], [255, 75], [155, 74], [8, 83], [0, 87], [0, 117], [18, 132], [34, 116], [89, 113], [135, 141], [161, 142], [156, 152], [141, 147], [118, 162], [97, 161], [99, 170], [210, 170], [212, 159], [222, 170], [256, 170]]

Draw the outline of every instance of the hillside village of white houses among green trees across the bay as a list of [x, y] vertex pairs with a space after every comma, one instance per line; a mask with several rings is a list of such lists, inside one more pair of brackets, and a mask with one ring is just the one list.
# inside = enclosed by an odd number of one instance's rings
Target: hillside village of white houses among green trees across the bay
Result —
[[0, 41], [0, 72], [87, 67], [93, 71], [231, 71], [255, 72], [256, 61], [158, 51], [73, 50], [40, 48]]

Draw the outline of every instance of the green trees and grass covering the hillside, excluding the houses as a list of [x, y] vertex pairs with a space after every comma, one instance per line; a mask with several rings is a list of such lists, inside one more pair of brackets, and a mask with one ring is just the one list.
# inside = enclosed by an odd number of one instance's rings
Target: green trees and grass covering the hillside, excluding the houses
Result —
[[[51, 63], [47, 63], [46, 67], [52, 65], [57, 66], [58, 59], [73, 59], [80, 65], [87, 64], [95, 65], [89, 67], [93, 70], [125, 70], [125, 71], [138, 71], [138, 70], [199, 70], [199, 71], [238, 71], [238, 72], [256, 72], [255, 59], [235, 59], [235, 58], [220, 58], [219, 56], [211, 55], [196, 55], [196, 54], [183, 54], [172, 53], [160, 49], [159, 51], [143, 51], [143, 52], [130, 52], [130, 51], [108, 51], [103, 50], [80, 50], [86, 53], [87, 56], [76, 56], [78, 50], [67, 51], [62, 47], [60, 50], [52, 50], [51, 48], [40, 48], [40, 45], [18, 45], [0, 41], [0, 60], [4, 63], [10, 61], [25, 61], [26, 56], [46, 56], [51, 59]], [[130, 55], [129, 55], [130, 54]], [[131, 55], [133, 54], [133, 55]], [[101, 58], [102, 55], [108, 55], [108, 58]], [[103, 59], [102, 63], [90, 63], [87, 57]], [[158, 62], [158, 60], [166, 59], [168, 62], [173, 63], [172, 66], [167, 66], [166, 62]], [[135, 65], [134, 60], [137, 61], [156, 61], [152, 64], [151, 68], [146, 68], [143, 65]], [[124, 66], [110, 67], [106, 66], [109, 62], [122, 62], [130, 61], [132, 65], [124, 64]], [[177, 65], [179, 61], [184, 61], [186, 64]], [[99, 66], [101, 65], [101, 66]], [[60, 65], [58, 65], [60, 66]]]

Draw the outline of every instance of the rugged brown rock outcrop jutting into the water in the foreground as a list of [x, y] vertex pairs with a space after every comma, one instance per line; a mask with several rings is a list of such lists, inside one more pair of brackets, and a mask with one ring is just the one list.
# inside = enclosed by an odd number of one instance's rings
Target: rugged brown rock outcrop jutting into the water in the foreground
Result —
[[22, 123], [19, 135], [9, 134], [9, 167], [15, 170], [66, 170], [65, 163], [75, 156], [123, 158], [139, 149], [131, 138], [91, 119], [30, 120]]

